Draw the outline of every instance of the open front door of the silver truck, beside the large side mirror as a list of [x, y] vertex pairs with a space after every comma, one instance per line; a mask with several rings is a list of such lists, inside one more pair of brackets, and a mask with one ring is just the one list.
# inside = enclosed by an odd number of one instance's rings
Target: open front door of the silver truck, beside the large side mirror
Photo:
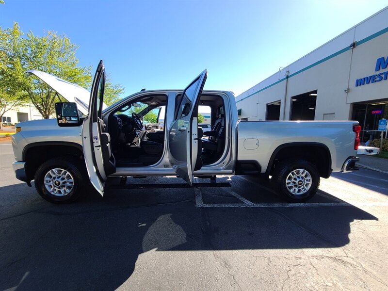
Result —
[[109, 133], [104, 132], [102, 108], [105, 68], [99, 62], [90, 92], [89, 116], [82, 124], [82, 147], [90, 182], [99, 194], [104, 194], [108, 175], [115, 172]]

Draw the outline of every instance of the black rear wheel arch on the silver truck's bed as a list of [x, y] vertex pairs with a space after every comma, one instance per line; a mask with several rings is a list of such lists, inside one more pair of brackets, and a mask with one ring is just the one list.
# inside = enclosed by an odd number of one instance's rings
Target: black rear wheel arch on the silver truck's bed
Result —
[[266, 175], [271, 175], [276, 163], [292, 157], [306, 159], [316, 164], [320, 177], [329, 178], [332, 172], [331, 154], [329, 148], [322, 143], [296, 142], [280, 145], [271, 155]]

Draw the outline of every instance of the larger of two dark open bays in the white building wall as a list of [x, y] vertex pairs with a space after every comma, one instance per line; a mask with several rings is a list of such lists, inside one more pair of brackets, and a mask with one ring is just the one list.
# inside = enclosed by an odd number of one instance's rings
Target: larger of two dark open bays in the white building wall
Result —
[[317, 95], [315, 90], [291, 97], [290, 120], [314, 120]]

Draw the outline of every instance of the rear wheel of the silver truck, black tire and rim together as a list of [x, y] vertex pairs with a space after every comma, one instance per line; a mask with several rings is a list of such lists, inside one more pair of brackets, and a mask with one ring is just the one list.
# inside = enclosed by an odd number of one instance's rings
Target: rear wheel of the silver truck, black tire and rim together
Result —
[[292, 159], [279, 162], [275, 166], [271, 182], [275, 191], [286, 200], [304, 202], [317, 192], [320, 176], [316, 166], [311, 162]]

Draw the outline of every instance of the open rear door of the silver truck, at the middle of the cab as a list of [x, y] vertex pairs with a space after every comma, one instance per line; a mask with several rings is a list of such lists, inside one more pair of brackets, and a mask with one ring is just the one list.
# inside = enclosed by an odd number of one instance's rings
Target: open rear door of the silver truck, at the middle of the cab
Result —
[[168, 130], [170, 163], [174, 171], [190, 185], [198, 153], [198, 101], [207, 76], [208, 71], [204, 70], [183, 91], [174, 121]]

